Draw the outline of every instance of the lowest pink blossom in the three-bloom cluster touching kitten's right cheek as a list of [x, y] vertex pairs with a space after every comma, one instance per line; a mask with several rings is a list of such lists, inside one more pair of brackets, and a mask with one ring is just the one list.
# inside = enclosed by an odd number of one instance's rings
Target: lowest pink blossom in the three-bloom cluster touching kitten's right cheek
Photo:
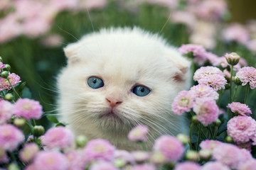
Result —
[[193, 107], [196, 113], [196, 119], [204, 126], [215, 122], [218, 119], [218, 106], [212, 99], [198, 98]]

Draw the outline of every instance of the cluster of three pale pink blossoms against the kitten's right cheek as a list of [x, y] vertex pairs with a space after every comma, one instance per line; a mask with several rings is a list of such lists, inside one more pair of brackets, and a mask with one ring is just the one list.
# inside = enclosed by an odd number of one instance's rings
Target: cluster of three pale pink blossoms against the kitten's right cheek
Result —
[[196, 119], [207, 126], [218, 118], [219, 109], [215, 103], [218, 93], [210, 86], [199, 84], [190, 91], [181, 91], [171, 105], [175, 114], [181, 115], [193, 108]]

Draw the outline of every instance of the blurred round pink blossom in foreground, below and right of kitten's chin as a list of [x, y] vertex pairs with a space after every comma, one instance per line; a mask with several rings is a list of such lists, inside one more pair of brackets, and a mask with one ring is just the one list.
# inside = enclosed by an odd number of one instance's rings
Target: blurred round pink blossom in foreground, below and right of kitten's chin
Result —
[[154, 151], [164, 154], [166, 161], [177, 162], [185, 151], [181, 141], [169, 135], [159, 137], [154, 143]]

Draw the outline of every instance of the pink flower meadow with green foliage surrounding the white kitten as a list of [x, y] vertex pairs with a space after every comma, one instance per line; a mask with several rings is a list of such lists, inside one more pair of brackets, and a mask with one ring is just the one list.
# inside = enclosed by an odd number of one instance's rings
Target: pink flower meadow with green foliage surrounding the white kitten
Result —
[[[227, 23], [223, 0], [0, 4], [0, 170], [255, 169], [256, 21]], [[127, 135], [142, 145], [135, 151], [75, 137], [54, 114], [61, 48], [97, 28], [134, 25], [191, 60], [191, 87], [171, 105], [188, 119], [188, 134], [162, 135], [146, 148], [149, 127], [137, 125]]]

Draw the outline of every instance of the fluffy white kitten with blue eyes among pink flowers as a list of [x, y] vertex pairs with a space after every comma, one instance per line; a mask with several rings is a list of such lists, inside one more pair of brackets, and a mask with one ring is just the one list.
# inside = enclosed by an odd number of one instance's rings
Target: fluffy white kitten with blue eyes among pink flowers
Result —
[[171, 112], [178, 91], [189, 86], [190, 62], [158, 35], [139, 28], [102, 29], [64, 49], [68, 66], [58, 77], [60, 114], [75, 135], [139, 149], [127, 140], [137, 124], [156, 137], [186, 132]]

